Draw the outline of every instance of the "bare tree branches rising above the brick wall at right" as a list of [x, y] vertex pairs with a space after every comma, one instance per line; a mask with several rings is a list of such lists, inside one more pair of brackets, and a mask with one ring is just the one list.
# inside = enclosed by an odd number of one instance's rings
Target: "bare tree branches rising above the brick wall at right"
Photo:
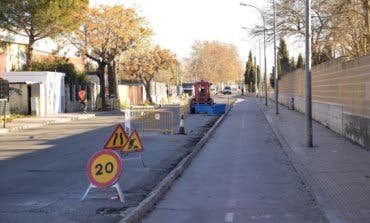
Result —
[[[369, 0], [312, 0], [312, 59], [352, 59], [370, 52]], [[273, 35], [273, 8], [265, 9], [268, 39]], [[278, 37], [305, 36], [305, 0], [276, 3]], [[255, 27], [251, 35], [262, 35]]]

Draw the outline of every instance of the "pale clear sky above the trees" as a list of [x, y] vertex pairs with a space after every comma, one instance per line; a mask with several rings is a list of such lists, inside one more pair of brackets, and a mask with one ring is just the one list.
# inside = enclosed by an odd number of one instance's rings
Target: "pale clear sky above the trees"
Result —
[[[269, 0], [90, 0], [90, 5], [120, 4], [136, 8], [149, 21], [154, 43], [171, 50], [178, 58], [189, 57], [194, 41], [207, 40], [235, 45], [243, 63], [249, 50], [258, 64], [260, 60], [263, 63], [263, 38], [253, 39], [242, 29], [262, 26], [262, 16], [252, 7], [241, 6], [241, 2], [261, 10], [272, 7]], [[267, 69], [271, 70], [273, 44], [266, 45]]]

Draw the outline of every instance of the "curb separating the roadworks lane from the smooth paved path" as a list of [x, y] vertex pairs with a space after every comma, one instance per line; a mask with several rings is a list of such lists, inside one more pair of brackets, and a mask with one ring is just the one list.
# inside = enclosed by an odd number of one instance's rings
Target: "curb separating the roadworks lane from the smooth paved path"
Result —
[[147, 198], [140, 202], [138, 206], [133, 209], [129, 209], [125, 213], [125, 217], [119, 221], [119, 223], [136, 223], [142, 219], [147, 212], [153, 209], [156, 203], [158, 203], [161, 198], [166, 194], [166, 192], [171, 188], [175, 180], [184, 172], [184, 170], [190, 165], [192, 160], [197, 156], [197, 154], [202, 150], [204, 144], [213, 135], [216, 128], [225, 119], [227, 114], [233, 107], [233, 103], [229, 109], [223, 114], [211, 129], [202, 137], [202, 139], [195, 145], [193, 152], [187, 155], [181, 160], [181, 162], [173, 169], [155, 188]]

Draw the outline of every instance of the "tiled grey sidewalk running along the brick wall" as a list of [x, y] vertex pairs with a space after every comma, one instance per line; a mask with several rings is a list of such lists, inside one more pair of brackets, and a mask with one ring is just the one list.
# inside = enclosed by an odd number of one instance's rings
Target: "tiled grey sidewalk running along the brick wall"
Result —
[[306, 146], [304, 114], [255, 101], [330, 222], [370, 222], [370, 152], [313, 121]]

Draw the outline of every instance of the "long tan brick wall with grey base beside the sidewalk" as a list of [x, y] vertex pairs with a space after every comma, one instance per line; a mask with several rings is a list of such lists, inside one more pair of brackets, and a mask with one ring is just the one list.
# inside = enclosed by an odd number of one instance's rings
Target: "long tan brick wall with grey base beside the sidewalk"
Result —
[[[279, 81], [279, 102], [305, 111], [305, 71], [296, 70]], [[332, 61], [312, 68], [313, 118], [370, 148], [370, 55]]]

